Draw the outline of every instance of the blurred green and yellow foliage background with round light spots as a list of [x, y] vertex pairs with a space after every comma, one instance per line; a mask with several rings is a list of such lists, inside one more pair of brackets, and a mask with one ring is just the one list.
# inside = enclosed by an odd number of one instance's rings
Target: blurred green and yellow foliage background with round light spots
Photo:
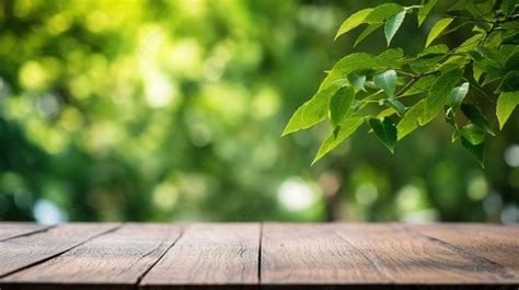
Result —
[[[441, 116], [394, 155], [364, 125], [313, 166], [327, 124], [280, 137], [324, 70], [385, 49], [333, 42], [382, 2], [0, 1], [0, 220], [517, 222], [517, 111], [485, 170]], [[392, 46], [419, 51], [436, 21]]]

